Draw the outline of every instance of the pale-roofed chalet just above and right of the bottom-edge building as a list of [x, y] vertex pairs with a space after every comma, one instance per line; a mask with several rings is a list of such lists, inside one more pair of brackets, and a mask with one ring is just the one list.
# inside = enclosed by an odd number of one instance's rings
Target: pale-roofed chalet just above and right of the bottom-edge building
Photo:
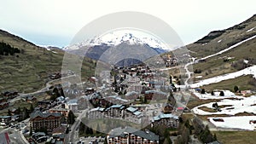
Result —
[[179, 118], [172, 114], [160, 113], [160, 115], [152, 119], [152, 126], [163, 125], [166, 127], [177, 128], [179, 125]]

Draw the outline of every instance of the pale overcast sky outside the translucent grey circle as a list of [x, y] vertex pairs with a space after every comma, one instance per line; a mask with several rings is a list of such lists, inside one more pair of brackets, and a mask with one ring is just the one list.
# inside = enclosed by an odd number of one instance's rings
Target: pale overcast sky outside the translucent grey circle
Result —
[[39, 45], [63, 47], [96, 18], [138, 11], [166, 21], [188, 44], [247, 20], [256, 14], [255, 5], [255, 0], [6, 0], [0, 5], [0, 29]]

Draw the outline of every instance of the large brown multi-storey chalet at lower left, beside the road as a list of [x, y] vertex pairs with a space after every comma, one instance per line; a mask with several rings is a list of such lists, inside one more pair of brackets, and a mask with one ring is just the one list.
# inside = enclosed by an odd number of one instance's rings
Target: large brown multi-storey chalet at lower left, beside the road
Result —
[[30, 126], [32, 130], [40, 130], [45, 128], [48, 131], [59, 127], [61, 125], [60, 112], [32, 112], [30, 115]]

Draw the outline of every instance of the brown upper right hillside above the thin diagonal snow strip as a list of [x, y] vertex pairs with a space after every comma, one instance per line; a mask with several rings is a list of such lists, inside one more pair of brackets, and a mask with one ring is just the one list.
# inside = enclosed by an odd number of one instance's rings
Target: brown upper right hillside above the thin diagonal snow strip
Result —
[[254, 35], [256, 35], [256, 14], [236, 26], [210, 32], [206, 37], [187, 45], [187, 48], [191, 51], [190, 55], [201, 58], [227, 49]]

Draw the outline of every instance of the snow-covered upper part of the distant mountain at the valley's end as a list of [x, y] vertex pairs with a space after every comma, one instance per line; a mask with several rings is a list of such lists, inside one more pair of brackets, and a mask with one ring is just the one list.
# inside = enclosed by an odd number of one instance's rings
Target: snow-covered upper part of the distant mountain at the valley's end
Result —
[[84, 49], [88, 49], [85, 55], [91, 59], [99, 60], [106, 50], [116, 47], [120, 48], [122, 46], [126, 48], [131, 45], [131, 47], [137, 47], [138, 49], [151, 49], [154, 50], [155, 54], [162, 54], [170, 49], [154, 37], [132, 32], [133, 31], [110, 32], [103, 36], [96, 36], [92, 39], [85, 40], [84, 42], [76, 43], [67, 47], [66, 50], [73, 54], [81, 55], [81, 52], [84, 51]]

